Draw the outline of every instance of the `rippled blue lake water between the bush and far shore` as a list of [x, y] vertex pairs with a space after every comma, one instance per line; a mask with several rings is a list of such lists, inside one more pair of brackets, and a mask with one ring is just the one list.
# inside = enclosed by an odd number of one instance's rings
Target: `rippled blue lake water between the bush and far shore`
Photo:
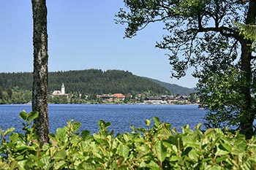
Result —
[[[31, 112], [31, 105], [0, 105], [0, 127], [2, 129], [22, 128], [22, 120], [18, 114], [22, 111]], [[49, 104], [50, 132], [67, 125], [69, 120], [82, 123], [80, 130], [96, 133], [99, 130], [98, 120], [111, 123], [108, 130], [114, 133], [131, 132], [130, 124], [137, 128], [146, 127], [145, 120], [159, 117], [162, 122], [168, 122], [172, 127], [181, 129], [189, 124], [190, 128], [203, 122], [206, 111], [193, 105], [118, 105], [118, 104]]]

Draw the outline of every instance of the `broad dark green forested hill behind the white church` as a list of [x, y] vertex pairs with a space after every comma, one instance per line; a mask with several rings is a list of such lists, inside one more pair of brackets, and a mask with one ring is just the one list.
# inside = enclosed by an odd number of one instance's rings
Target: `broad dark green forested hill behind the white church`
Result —
[[[0, 73], [0, 86], [4, 88], [32, 89], [31, 73]], [[130, 72], [88, 69], [49, 73], [49, 92], [60, 90], [64, 82], [67, 93], [145, 93], [168, 94], [169, 90], [151, 80], [145, 80]]]

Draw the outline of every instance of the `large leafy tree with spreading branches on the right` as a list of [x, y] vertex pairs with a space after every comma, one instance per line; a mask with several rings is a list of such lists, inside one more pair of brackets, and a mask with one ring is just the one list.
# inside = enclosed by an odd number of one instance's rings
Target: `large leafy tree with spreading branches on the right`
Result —
[[214, 118], [219, 126], [222, 122], [236, 125], [250, 138], [254, 134], [256, 112], [252, 95], [256, 93], [255, 41], [241, 34], [241, 26], [255, 25], [256, 1], [124, 0], [124, 3], [127, 9], [120, 9], [116, 21], [127, 24], [125, 36], [131, 38], [148, 24], [162, 21], [169, 34], [156, 46], [170, 50], [172, 77], [184, 76], [187, 68], [193, 66], [193, 76], [199, 78], [200, 100], [210, 111], [206, 119]]

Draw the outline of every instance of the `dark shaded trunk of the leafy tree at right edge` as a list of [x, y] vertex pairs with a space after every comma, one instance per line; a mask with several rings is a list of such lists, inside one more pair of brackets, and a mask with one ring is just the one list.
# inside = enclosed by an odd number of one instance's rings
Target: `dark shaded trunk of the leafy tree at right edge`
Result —
[[[256, 21], [256, 0], [249, 1], [249, 9], [246, 16], [246, 25], [255, 24]], [[241, 93], [244, 95], [244, 106], [241, 108], [241, 133], [249, 139], [253, 136], [253, 121], [255, 109], [252, 109], [251, 84], [252, 84], [252, 41], [243, 39], [241, 42], [241, 71], [244, 83]]]

